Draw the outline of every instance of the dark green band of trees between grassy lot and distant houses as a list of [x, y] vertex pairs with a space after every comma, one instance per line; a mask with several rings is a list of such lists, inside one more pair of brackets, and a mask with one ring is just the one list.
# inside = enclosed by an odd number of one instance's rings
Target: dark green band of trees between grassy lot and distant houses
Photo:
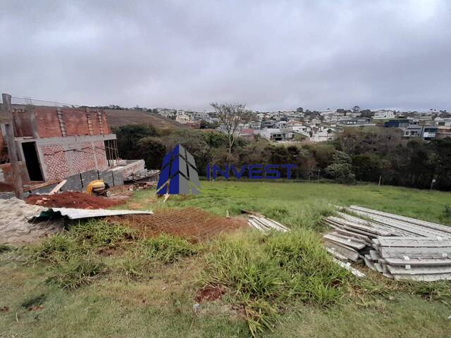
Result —
[[[292, 178], [329, 179], [354, 184], [376, 182], [404, 187], [451, 190], [451, 139], [405, 140], [400, 130], [383, 127], [348, 128], [333, 141], [273, 144], [261, 137], [237, 137], [203, 130], [159, 130], [152, 125], [114, 128], [121, 158], [143, 158], [160, 169], [164, 154], [182, 144], [194, 156], [199, 175], [206, 164], [295, 164]], [[433, 182], [435, 180], [435, 182]]]

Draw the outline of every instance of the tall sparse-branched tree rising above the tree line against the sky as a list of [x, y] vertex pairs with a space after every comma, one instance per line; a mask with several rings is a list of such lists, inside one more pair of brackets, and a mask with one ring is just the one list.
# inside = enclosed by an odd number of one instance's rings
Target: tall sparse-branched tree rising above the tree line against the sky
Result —
[[245, 122], [250, 115], [250, 111], [246, 109], [245, 104], [210, 104], [216, 112], [216, 117], [224, 127], [228, 142], [228, 156], [229, 162], [232, 158], [233, 144], [237, 138], [239, 132], [238, 127], [240, 123]]

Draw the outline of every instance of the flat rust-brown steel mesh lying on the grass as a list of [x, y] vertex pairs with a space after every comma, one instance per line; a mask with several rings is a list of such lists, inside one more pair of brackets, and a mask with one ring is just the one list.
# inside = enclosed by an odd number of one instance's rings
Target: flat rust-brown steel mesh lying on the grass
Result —
[[197, 208], [168, 209], [154, 215], [116, 216], [109, 218], [109, 221], [128, 225], [143, 237], [166, 233], [191, 239], [192, 242], [248, 226], [245, 218], [222, 218]]

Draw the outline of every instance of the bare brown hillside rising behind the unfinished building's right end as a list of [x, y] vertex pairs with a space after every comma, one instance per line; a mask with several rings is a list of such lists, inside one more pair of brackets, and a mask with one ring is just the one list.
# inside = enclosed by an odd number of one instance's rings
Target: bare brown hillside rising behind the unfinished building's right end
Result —
[[175, 122], [174, 120], [163, 118], [161, 115], [147, 113], [145, 111], [135, 111], [133, 109], [123, 111], [116, 109], [105, 109], [105, 112], [108, 117], [108, 123], [111, 127], [146, 123], [163, 129], [187, 128], [185, 125]]

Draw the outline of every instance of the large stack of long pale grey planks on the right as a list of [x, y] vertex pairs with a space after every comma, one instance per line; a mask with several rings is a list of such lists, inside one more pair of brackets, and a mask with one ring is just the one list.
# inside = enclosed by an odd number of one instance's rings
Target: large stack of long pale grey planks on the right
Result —
[[360, 206], [344, 211], [323, 218], [334, 228], [323, 239], [335, 258], [395, 280], [451, 280], [451, 227]]

